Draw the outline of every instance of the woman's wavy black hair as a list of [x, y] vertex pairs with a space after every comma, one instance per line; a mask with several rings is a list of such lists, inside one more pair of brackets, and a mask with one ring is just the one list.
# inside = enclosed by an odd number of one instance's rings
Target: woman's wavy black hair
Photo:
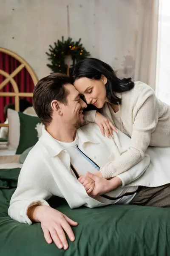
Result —
[[108, 79], [105, 84], [108, 101], [113, 105], [121, 104], [121, 99], [115, 93], [131, 90], [134, 87], [131, 77], [119, 79], [110, 65], [96, 58], [79, 61], [71, 71], [72, 83], [81, 77], [99, 80], [102, 75]]

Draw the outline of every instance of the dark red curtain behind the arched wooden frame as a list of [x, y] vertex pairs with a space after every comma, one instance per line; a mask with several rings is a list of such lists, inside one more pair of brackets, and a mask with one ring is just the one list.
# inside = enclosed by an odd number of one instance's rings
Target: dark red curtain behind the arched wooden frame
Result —
[[[20, 62], [17, 61], [15, 58], [11, 57], [10, 55], [0, 52], [0, 70], [4, 70], [6, 73], [11, 74], [18, 66], [20, 66]], [[0, 83], [4, 81], [6, 77], [0, 75]], [[14, 78], [13, 78], [19, 88], [20, 92], [24, 93], [32, 93], [34, 90], [34, 83], [31, 79], [30, 74], [23, 68]], [[1, 92], [14, 92], [14, 89], [9, 82], [3, 87]], [[21, 97], [24, 98], [24, 97]], [[32, 104], [32, 98], [26, 97], [26, 100]], [[5, 121], [4, 115], [4, 107], [7, 104], [14, 104], [14, 97], [2, 97], [0, 96], [0, 122], [3, 123]]]

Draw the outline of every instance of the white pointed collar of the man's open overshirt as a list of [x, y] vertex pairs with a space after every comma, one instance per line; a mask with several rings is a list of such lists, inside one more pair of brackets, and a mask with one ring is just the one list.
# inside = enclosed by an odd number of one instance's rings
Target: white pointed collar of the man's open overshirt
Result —
[[[77, 129], [77, 135], [79, 137], [79, 142], [81, 146], [85, 146], [85, 143], [99, 144], [97, 138], [92, 137], [92, 134], [89, 134], [85, 129]], [[46, 150], [50, 157], [57, 156], [65, 148], [57, 143], [57, 141], [42, 127], [42, 136], [40, 137], [40, 142], [45, 146]]]

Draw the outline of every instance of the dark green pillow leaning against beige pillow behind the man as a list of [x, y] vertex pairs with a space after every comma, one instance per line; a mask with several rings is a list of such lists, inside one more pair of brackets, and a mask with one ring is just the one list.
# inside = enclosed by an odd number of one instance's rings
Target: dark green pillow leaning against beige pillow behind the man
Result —
[[20, 142], [16, 154], [22, 154], [27, 148], [34, 146], [38, 141], [36, 125], [41, 123], [37, 116], [28, 116], [18, 112], [20, 118]]

